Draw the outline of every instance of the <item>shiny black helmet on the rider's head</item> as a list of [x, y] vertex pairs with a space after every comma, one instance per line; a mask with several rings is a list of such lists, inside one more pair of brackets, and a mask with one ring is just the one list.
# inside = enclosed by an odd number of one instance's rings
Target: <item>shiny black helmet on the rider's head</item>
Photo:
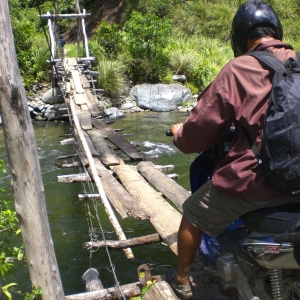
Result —
[[235, 57], [247, 52], [249, 29], [258, 24], [273, 28], [275, 38], [282, 40], [282, 26], [273, 8], [260, 0], [250, 0], [238, 9], [232, 21], [231, 47]]

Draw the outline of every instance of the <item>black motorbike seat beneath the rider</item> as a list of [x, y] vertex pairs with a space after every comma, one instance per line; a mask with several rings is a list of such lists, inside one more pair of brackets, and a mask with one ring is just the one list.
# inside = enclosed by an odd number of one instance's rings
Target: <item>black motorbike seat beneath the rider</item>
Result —
[[294, 233], [300, 221], [300, 203], [262, 208], [240, 217], [250, 231], [266, 234]]

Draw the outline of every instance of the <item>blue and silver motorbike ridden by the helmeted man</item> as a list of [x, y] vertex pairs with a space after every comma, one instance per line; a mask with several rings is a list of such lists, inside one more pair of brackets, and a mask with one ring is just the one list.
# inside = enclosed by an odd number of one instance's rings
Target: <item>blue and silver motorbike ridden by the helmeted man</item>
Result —
[[[232, 125], [220, 145], [192, 162], [192, 193], [211, 179], [234, 131]], [[299, 300], [300, 203], [249, 212], [217, 237], [203, 233], [199, 252], [205, 264], [217, 270], [220, 292], [229, 299]]]

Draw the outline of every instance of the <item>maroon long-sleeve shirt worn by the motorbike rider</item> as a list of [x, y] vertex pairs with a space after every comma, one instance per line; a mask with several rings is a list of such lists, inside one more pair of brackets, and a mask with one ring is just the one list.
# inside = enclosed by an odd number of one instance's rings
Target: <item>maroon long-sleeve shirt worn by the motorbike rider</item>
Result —
[[[296, 57], [291, 47], [279, 40], [258, 44], [250, 51], [268, 51], [282, 61]], [[214, 146], [238, 121], [261, 149], [272, 74], [251, 56], [229, 61], [213, 82], [199, 95], [197, 105], [174, 136], [175, 146], [184, 153], [200, 152]], [[267, 200], [284, 197], [253, 173], [257, 165], [243, 129], [231, 143], [228, 155], [214, 170], [212, 182], [223, 195], [240, 200]]]

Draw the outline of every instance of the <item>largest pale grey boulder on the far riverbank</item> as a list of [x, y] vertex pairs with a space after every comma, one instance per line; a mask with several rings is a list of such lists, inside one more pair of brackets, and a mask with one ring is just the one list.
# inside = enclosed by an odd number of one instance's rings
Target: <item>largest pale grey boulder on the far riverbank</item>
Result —
[[140, 108], [157, 112], [176, 110], [193, 97], [190, 89], [178, 83], [139, 84], [130, 90], [130, 96]]

